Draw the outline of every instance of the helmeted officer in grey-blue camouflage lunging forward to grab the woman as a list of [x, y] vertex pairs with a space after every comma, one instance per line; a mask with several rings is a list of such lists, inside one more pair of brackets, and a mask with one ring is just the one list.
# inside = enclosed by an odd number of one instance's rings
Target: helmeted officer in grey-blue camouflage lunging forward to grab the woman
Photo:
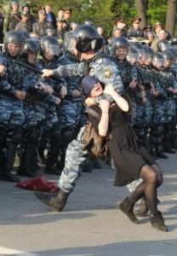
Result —
[[[74, 32], [72, 46], [80, 61], [86, 62], [86, 66], [84, 62], [82, 62], [79, 64], [76, 63], [61, 66], [52, 71], [44, 69], [43, 75], [50, 76], [54, 74], [58, 76], [65, 75], [66, 77], [73, 77], [74, 75], [83, 76], [84, 74], [89, 73], [100, 79], [106, 86], [112, 84], [117, 91], [122, 92], [123, 82], [114, 61], [112, 61], [108, 55], [102, 53], [96, 54], [99, 41], [99, 34], [94, 26], [78, 26]], [[87, 72], [85, 67], [87, 67]], [[62, 211], [63, 207], [66, 205], [68, 195], [71, 193], [77, 178], [79, 177], [81, 171], [79, 166], [84, 160], [84, 155], [88, 153], [86, 150], [83, 151], [84, 128], [84, 126], [81, 128], [77, 139], [73, 140], [66, 150], [66, 166], [60, 176], [59, 191], [53, 195], [43, 194], [41, 192], [36, 193], [36, 196], [40, 201], [53, 207], [59, 212]]]

